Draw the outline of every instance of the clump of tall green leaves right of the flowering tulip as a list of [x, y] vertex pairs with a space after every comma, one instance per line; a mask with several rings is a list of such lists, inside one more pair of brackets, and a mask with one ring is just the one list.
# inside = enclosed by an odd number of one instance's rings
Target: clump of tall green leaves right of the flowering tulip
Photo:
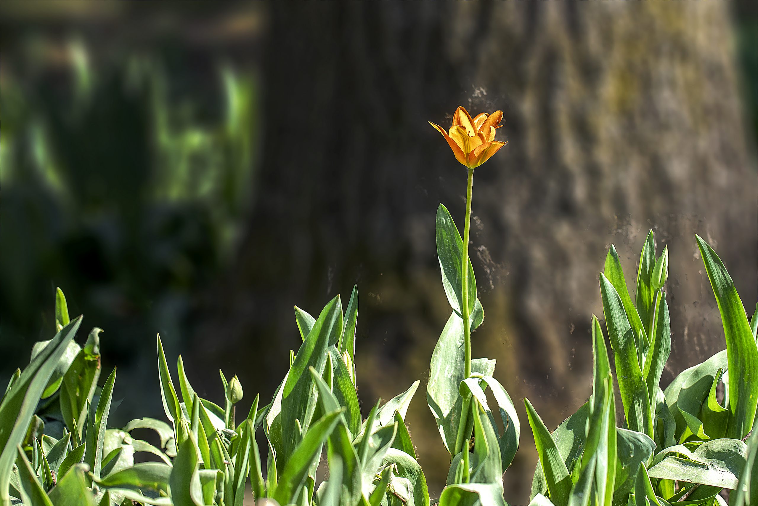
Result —
[[[600, 273], [606, 332], [624, 408], [617, 426], [611, 366], [593, 316], [592, 396], [551, 434], [525, 400], [540, 463], [534, 500], [556, 506], [730, 504], [758, 500], [756, 435], [758, 316], [748, 322], [724, 264], [702, 238], [700, 256], [721, 313], [726, 350], [685, 369], [662, 390], [671, 350], [666, 293], [668, 251], [656, 257], [653, 232], [645, 241], [632, 301], [619, 256], [611, 247]], [[731, 379], [731, 382], [729, 381]], [[721, 396], [720, 391], [724, 394]], [[540, 503], [541, 504], [541, 503]]]

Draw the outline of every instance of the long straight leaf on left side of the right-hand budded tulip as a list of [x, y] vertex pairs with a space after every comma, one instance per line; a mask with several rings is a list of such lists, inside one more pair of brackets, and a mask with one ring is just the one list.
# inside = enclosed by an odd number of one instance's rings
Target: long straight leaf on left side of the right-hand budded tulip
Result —
[[[615, 253], [613, 248], [611, 250]], [[610, 253], [608, 258], [618, 260], [618, 256]], [[606, 261], [606, 271], [608, 270], [609, 262]], [[600, 273], [600, 291], [603, 294], [603, 314], [606, 317], [608, 337], [615, 356], [616, 378], [619, 380], [619, 391], [624, 404], [626, 421], [630, 429], [644, 432], [652, 438], [653, 416], [650, 412], [650, 396], [647, 394], [647, 384], [642, 377], [637, 347], [634, 344], [634, 332], [629, 325], [622, 298], [602, 272]]]

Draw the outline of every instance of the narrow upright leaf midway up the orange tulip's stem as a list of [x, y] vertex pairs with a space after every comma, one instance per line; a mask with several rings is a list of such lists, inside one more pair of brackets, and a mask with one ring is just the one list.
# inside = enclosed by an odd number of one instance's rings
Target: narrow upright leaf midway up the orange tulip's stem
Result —
[[[440, 260], [440, 269], [442, 269], [442, 284], [445, 288], [447, 300], [453, 310], [459, 315], [462, 314], [462, 263], [463, 263], [463, 240], [461, 234], [456, 228], [453, 217], [447, 211], [447, 208], [440, 204], [437, 208], [437, 258]], [[476, 280], [474, 278], [474, 267], [471, 266], [471, 259], [468, 259], [468, 313], [474, 311], [476, 300]]]

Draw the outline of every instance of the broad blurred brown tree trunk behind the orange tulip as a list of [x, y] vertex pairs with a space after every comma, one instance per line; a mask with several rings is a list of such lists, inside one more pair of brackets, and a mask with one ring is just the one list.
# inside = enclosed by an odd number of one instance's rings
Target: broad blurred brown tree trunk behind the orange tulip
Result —
[[[590, 394], [590, 314], [602, 316], [611, 243], [632, 290], [647, 231], [659, 253], [669, 245], [665, 382], [725, 347], [694, 233], [752, 313], [758, 184], [728, 5], [277, 4], [270, 15], [256, 200], [205, 332], [220, 325], [235, 349], [265, 354], [248, 372], [264, 395], [299, 346], [288, 304], [318, 313], [356, 281], [364, 407], [427, 373], [449, 315], [434, 213], [443, 202], [461, 222], [465, 171], [426, 121], [449, 124], [459, 104], [505, 115], [509, 145], [474, 183], [487, 314], [474, 354], [498, 359], [517, 405], [529, 395], [554, 427]], [[522, 504], [536, 461], [524, 420], [506, 473], [506, 497]], [[409, 423], [439, 492], [447, 460], [422, 392]]]

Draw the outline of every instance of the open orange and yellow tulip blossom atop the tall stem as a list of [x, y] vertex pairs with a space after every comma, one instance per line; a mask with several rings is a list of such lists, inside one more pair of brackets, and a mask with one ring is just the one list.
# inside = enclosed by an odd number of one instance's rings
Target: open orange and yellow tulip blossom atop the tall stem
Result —
[[453, 126], [449, 131], [429, 121], [429, 124], [437, 129], [453, 149], [456, 160], [468, 168], [477, 168], [487, 162], [506, 143], [495, 140], [495, 130], [502, 127], [503, 111], [486, 112], [471, 118], [468, 111], [462, 106], [456, 109], [453, 115]]

